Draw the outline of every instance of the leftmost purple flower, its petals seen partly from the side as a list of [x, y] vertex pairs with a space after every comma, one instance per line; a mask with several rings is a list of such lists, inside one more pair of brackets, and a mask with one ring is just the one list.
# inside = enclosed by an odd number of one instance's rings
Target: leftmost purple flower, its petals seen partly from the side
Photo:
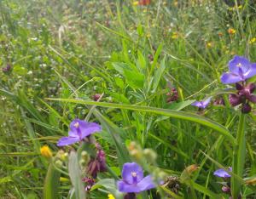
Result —
[[84, 120], [75, 119], [70, 123], [70, 131], [68, 137], [59, 139], [57, 145], [72, 145], [73, 143], [82, 141], [85, 137], [90, 134], [94, 134], [101, 131], [102, 128], [99, 124], [94, 122], [85, 122]]

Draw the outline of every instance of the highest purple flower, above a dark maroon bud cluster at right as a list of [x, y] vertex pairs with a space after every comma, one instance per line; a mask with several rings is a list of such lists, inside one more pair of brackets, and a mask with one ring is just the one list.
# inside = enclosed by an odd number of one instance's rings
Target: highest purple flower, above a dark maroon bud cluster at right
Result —
[[256, 75], [256, 63], [250, 63], [244, 57], [235, 56], [229, 63], [229, 72], [225, 72], [220, 80], [223, 83], [235, 83], [245, 81]]

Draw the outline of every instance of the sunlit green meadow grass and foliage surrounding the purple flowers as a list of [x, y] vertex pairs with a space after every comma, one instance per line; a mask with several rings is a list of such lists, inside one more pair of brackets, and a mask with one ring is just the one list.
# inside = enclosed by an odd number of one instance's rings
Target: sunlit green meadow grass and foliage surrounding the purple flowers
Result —
[[[166, 186], [159, 198], [228, 198], [213, 172], [236, 162], [235, 187], [242, 185], [243, 198], [255, 197], [255, 185], [242, 180], [256, 172], [255, 105], [238, 127], [240, 110], [228, 102], [234, 90], [219, 77], [234, 54], [256, 62], [256, 7], [250, 1], [241, 9], [223, 1], [175, 2], [0, 1], [0, 65], [12, 67], [9, 73], [0, 71], [0, 198], [43, 198], [44, 182], [55, 189], [50, 185], [60, 171], [40, 155], [40, 147], [49, 145], [60, 158], [56, 141], [67, 135], [74, 118], [103, 128], [96, 140], [109, 169], [87, 194], [90, 198], [108, 198], [108, 191], [118, 196], [113, 179], [131, 161], [142, 161], [148, 173], [183, 176], [178, 193]], [[229, 34], [229, 28], [236, 33]], [[168, 104], [172, 87], [179, 99]], [[94, 94], [102, 94], [100, 102], [91, 100]], [[223, 96], [225, 105], [210, 105], [199, 115], [190, 104], [207, 96]], [[242, 133], [237, 139], [236, 132], [245, 132], [246, 139]], [[142, 153], [155, 151], [154, 166], [145, 164], [147, 156], [139, 160], [127, 150], [132, 141]], [[236, 145], [243, 141], [246, 155]], [[234, 150], [245, 159], [244, 169]], [[84, 194], [75, 181], [79, 160], [74, 153], [70, 159], [59, 168], [67, 178], [57, 190], [60, 198]], [[76, 163], [71, 167], [70, 162]], [[192, 164], [200, 168], [186, 173]], [[77, 190], [73, 196], [71, 182]], [[157, 198], [156, 191], [148, 198]]]

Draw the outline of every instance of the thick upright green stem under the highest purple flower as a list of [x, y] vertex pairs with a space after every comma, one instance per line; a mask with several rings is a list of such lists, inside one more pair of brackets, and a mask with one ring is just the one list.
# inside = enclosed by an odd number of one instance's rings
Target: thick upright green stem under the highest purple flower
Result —
[[[236, 134], [236, 146], [234, 147], [233, 152], [233, 173], [242, 177], [245, 158], [246, 158], [246, 138], [245, 138], [245, 121], [246, 115], [240, 115], [239, 126]], [[241, 181], [235, 178], [235, 176], [231, 177], [231, 192], [233, 198], [238, 198], [241, 191]]]

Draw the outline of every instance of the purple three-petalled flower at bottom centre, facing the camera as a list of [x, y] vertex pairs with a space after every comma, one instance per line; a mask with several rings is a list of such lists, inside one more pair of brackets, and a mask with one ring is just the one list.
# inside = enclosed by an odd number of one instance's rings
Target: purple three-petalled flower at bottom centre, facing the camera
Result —
[[122, 180], [118, 181], [118, 189], [125, 193], [139, 193], [155, 187], [151, 175], [143, 178], [143, 168], [136, 162], [128, 162], [123, 166]]

